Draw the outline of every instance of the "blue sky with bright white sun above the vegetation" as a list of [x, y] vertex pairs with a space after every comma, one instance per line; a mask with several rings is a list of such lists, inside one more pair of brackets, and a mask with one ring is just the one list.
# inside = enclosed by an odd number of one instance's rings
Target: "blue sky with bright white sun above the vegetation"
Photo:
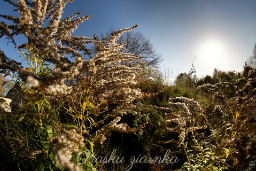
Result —
[[[214, 68], [242, 71], [256, 42], [255, 6], [255, 0], [74, 0], [67, 4], [64, 17], [90, 14], [91, 19], [74, 32], [88, 37], [138, 24], [136, 30], [164, 57], [160, 71], [169, 68], [176, 76], [189, 72], [193, 61], [200, 77]], [[3, 1], [0, 9], [12, 11]], [[0, 46], [9, 49], [3, 39]]]

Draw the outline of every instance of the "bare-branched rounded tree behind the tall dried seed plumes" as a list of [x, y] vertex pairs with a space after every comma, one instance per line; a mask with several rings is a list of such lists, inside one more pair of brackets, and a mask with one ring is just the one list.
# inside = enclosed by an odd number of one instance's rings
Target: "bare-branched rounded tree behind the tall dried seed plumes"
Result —
[[[102, 34], [102, 40], [110, 37], [112, 33], [114, 30]], [[162, 60], [162, 56], [154, 50], [149, 38], [146, 38], [141, 32], [126, 32], [120, 36], [118, 43], [126, 43], [123, 46], [126, 50], [122, 52], [139, 56], [139, 60], [144, 61], [146, 66], [157, 67]]]

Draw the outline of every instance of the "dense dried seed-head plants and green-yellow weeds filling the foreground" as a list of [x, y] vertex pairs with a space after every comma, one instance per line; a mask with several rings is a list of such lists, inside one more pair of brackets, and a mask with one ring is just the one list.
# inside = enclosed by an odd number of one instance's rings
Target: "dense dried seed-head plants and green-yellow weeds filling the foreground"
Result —
[[90, 16], [62, 19], [71, 1], [6, 2], [20, 17], [0, 15], [12, 22], [0, 22], [0, 37], [28, 67], [0, 51], [0, 71], [24, 96], [19, 108], [0, 109], [3, 170], [255, 168], [256, 68], [215, 69], [198, 80], [192, 66], [169, 86], [118, 42], [136, 26], [107, 38], [74, 36]]

